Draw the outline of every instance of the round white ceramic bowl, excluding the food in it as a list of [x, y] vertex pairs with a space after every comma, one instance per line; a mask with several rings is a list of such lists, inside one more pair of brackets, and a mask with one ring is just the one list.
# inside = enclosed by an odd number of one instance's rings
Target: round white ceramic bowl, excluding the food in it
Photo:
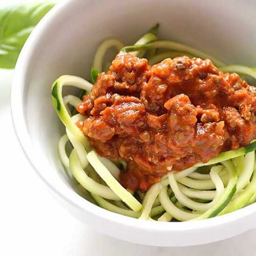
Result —
[[50, 96], [62, 74], [89, 78], [101, 40], [132, 44], [156, 22], [160, 37], [187, 43], [229, 63], [256, 65], [253, 1], [73, 0], [54, 7], [27, 40], [15, 68], [13, 123], [41, 179], [66, 209], [95, 230], [134, 243], [185, 246], [235, 236], [256, 226], [256, 204], [198, 222], [150, 222], [121, 216], [74, 192], [57, 154], [64, 129]]

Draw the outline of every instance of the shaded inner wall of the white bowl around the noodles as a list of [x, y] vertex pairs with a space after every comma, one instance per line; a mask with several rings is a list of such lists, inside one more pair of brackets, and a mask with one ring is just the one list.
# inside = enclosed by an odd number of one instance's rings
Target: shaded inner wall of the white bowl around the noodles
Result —
[[256, 19], [249, 1], [246, 6], [231, 0], [72, 2], [68, 14], [64, 9], [56, 13], [38, 34], [27, 63], [21, 106], [37, 154], [53, 167], [44, 169], [45, 175], [56, 182], [61, 178], [70, 188], [77, 184], [59, 161], [57, 144], [64, 128], [54, 112], [50, 89], [62, 74], [89, 79], [102, 40], [115, 37], [133, 44], [158, 22], [160, 38], [188, 44], [227, 63], [256, 65]]

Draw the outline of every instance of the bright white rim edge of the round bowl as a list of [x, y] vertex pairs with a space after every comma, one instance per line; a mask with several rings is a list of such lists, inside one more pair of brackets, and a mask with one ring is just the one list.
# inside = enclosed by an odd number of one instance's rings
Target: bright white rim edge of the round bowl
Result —
[[[78, 4], [74, 1], [64, 1], [53, 7], [34, 28], [33, 32], [27, 39], [24, 47], [21, 50], [20, 56], [15, 66], [12, 88], [11, 88], [11, 112], [13, 119], [13, 127], [15, 134], [20, 142], [28, 161], [33, 166], [37, 175], [43, 180], [44, 183], [58, 195], [61, 199], [68, 204], [73, 205], [75, 208], [87, 211], [90, 214], [124, 226], [133, 227], [135, 229], [143, 229], [152, 232], [184, 232], [184, 231], [202, 231], [212, 227], [219, 227], [224, 224], [230, 224], [243, 218], [250, 216], [256, 212], [256, 204], [249, 205], [243, 209], [236, 210], [235, 212], [217, 216], [214, 218], [201, 220], [199, 222], [148, 222], [145, 220], [134, 219], [127, 216], [122, 216], [106, 209], [102, 209], [87, 200], [84, 200], [77, 195], [72, 189], [63, 186], [56, 188], [54, 182], [47, 179], [43, 169], [53, 168], [50, 163], [43, 162], [40, 157], [34, 153], [35, 146], [33, 145], [26, 125], [26, 115], [24, 110], [25, 88], [27, 84], [27, 77], [31, 69], [30, 62], [33, 59], [33, 54], [36, 52], [36, 47], [40, 45], [40, 41], [46, 34], [47, 28], [61, 17], [61, 13], [68, 10], [73, 4]], [[56, 18], [57, 17], [57, 18]]]

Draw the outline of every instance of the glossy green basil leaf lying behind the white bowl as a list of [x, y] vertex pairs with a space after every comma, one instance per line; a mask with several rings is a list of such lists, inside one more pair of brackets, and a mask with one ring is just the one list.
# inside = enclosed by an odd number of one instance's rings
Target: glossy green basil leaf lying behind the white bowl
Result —
[[54, 3], [0, 8], [0, 68], [14, 68], [27, 37]]

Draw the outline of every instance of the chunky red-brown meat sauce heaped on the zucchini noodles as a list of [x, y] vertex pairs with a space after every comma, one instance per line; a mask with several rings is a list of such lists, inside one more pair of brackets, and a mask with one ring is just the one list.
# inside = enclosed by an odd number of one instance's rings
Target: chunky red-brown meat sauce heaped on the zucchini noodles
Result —
[[121, 184], [145, 192], [170, 170], [208, 162], [256, 137], [256, 88], [187, 56], [153, 66], [120, 52], [77, 110], [101, 156], [128, 163]]

